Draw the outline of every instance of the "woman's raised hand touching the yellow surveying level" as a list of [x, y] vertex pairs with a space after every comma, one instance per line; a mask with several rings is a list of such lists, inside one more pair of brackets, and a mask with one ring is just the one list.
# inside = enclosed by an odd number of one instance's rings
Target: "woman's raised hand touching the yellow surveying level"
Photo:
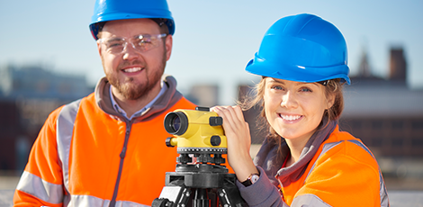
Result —
[[239, 182], [244, 182], [251, 174], [258, 174], [257, 167], [249, 154], [251, 136], [248, 123], [244, 120], [241, 108], [236, 106], [215, 106], [223, 119], [223, 130], [228, 139], [228, 163], [235, 171]]

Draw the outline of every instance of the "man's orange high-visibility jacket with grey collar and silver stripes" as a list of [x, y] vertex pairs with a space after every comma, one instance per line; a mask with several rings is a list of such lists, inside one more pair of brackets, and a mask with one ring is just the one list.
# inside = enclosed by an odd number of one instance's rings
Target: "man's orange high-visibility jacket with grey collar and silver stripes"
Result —
[[[15, 206], [151, 205], [175, 171], [176, 148], [166, 147], [167, 112], [194, 109], [168, 86], [147, 111], [128, 121], [112, 108], [103, 78], [94, 94], [51, 112], [14, 193]], [[114, 200], [114, 199], [113, 199]]]

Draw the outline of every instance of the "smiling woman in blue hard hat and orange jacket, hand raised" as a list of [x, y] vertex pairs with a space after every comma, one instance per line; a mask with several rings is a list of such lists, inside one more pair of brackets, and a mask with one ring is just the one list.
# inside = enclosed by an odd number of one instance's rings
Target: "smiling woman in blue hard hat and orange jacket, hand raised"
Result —
[[278, 20], [246, 70], [262, 79], [244, 106], [261, 103], [270, 129], [254, 162], [241, 107], [212, 111], [223, 117], [229, 165], [248, 205], [389, 206], [374, 156], [338, 129], [350, 79], [347, 44], [333, 24], [312, 14]]

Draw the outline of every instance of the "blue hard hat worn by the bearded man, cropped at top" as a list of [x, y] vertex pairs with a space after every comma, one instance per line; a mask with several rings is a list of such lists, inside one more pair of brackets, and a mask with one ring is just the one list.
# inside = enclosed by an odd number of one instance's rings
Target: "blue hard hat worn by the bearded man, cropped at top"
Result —
[[166, 0], [96, 0], [90, 31], [97, 40], [98, 23], [141, 18], [163, 19], [169, 34], [175, 33], [175, 21]]

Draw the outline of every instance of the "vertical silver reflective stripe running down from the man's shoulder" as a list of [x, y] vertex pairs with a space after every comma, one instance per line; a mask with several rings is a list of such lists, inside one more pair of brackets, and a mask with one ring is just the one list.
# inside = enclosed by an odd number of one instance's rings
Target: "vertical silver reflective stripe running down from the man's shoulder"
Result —
[[58, 159], [62, 165], [63, 172], [63, 184], [67, 191], [67, 195], [64, 198], [64, 205], [66, 206], [69, 202], [70, 197], [68, 193], [69, 189], [69, 151], [70, 151], [70, 142], [72, 140], [72, 134], [74, 130], [74, 123], [76, 119], [76, 113], [79, 108], [79, 103], [81, 99], [76, 100], [75, 102], [65, 105], [60, 113], [58, 114], [57, 121], [57, 142], [58, 142]]

